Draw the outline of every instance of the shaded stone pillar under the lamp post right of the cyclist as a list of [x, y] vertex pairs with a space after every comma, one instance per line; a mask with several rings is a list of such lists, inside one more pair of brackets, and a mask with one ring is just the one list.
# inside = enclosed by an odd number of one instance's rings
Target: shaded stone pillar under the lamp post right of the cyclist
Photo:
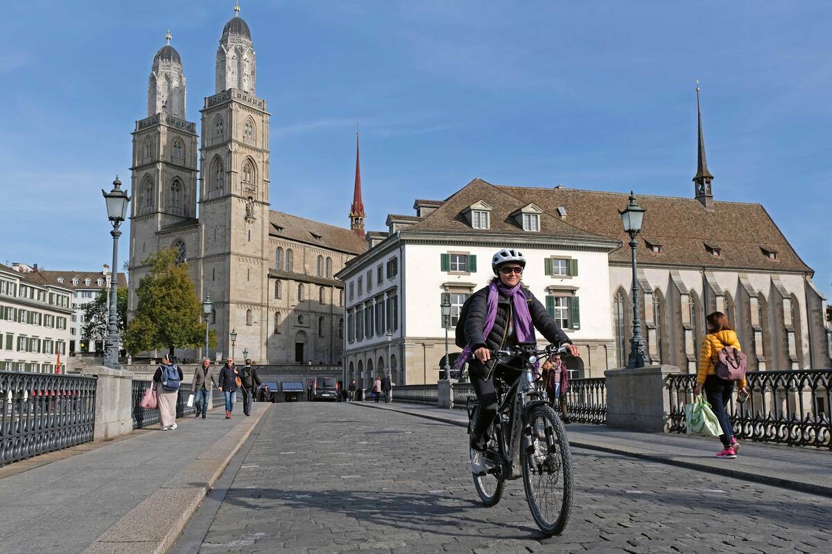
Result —
[[670, 416], [667, 375], [680, 373], [675, 365], [646, 365], [607, 370], [607, 425], [634, 431], [663, 433]]

